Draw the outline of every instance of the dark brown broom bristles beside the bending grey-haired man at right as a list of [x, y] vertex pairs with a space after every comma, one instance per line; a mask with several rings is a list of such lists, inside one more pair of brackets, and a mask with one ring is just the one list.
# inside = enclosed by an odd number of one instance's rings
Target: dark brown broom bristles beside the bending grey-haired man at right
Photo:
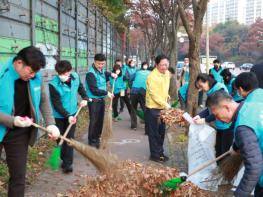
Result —
[[219, 164], [219, 170], [214, 171], [214, 177], [221, 177], [223, 180], [231, 182], [238, 174], [242, 166], [242, 157], [240, 154], [229, 155]]

